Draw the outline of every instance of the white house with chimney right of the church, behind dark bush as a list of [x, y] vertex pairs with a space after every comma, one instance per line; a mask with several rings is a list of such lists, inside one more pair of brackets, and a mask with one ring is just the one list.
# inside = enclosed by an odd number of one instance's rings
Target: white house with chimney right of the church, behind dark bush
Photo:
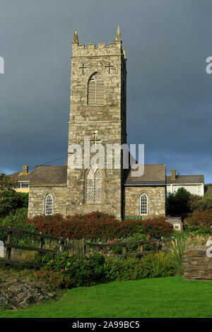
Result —
[[167, 175], [167, 194], [174, 194], [177, 189], [187, 189], [191, 194], [204, 196], [204, 175], [176, 175], [176, 170], [172, 170], [171, 175]]

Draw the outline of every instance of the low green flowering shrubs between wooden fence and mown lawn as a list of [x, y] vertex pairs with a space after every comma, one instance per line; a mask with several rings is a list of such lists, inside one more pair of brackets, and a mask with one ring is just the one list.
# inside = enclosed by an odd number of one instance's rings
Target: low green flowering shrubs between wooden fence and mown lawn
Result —
[[94, 285], [96, 281], [136, 280], [175, 275], [175, 263], [162, 251], [143, 256], [141, 259], [107, 258], [101, 254], [86, 255], [77, 259], [69, 254], [42, 259], [45, 268], [34, 273], [35, 278], [45, 280], [53, 288], [71, 288]]

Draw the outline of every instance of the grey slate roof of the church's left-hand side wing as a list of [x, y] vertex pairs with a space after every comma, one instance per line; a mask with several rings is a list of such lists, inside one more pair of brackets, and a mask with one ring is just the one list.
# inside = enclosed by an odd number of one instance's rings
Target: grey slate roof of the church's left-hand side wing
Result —
[[30, 181], [32, 184], [66, 184], [67, 180], [67, 166], [53, 165], [53, 166], [35, 166], [33, 178]]

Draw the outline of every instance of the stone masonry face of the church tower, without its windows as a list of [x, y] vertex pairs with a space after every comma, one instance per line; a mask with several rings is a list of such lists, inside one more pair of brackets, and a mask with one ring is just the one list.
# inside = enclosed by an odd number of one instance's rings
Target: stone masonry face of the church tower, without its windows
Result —
[[[105, 44], [72, 45], [71, 61], [71, 105], [69, 121], [69, 147], [73, 143], [84, 146], [84, 138], [93, 139], [93, 133], [98, 132], [97, 139], [106, 144], [126, 143], [126, 109], [123, 85], [126, 87], [125, 57], [122, 42]], [[110, 63], [110, 72], [108, 65]], [[81, 67], [84, 66], [84, 69]], [[104, 80], [104, 105], [89, 106], [88, 80], [93, 73], [98, 72]], [[126, 98], [125, 98], [126, 99]], [[93, 143], [90, 141], [90, 146]], [[98, 143], [97, 143], [98, 146]], [[84, 150], [83, 150], [84, 153]], [[82, 155], [83, 170], [71, 169], [70, 151], [68, 157], [66, 214], [88, 213], [102, 211], [113, 213], [117, 218], [122, 215], [122, 169], [102, 170], [102, 203], [86, 203], [86, 170], [84, 154]], [[94, 154], [91, 154], [91, 157]], [[106, 155], [105, 155], [106, 157]], [[119, 160], [121, 165], [121, 160]]]

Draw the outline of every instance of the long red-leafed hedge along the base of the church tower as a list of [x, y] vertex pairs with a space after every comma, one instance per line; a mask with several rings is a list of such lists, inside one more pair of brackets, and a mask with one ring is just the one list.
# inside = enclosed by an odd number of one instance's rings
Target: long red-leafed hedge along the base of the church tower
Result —
[[113, 239], [128, 237], [139, 231], [142, 220], [117, 220], [114, 215], [93, 212], [86, 215], [37, 216], [27, 220], [36, 232], [69, 239]]

